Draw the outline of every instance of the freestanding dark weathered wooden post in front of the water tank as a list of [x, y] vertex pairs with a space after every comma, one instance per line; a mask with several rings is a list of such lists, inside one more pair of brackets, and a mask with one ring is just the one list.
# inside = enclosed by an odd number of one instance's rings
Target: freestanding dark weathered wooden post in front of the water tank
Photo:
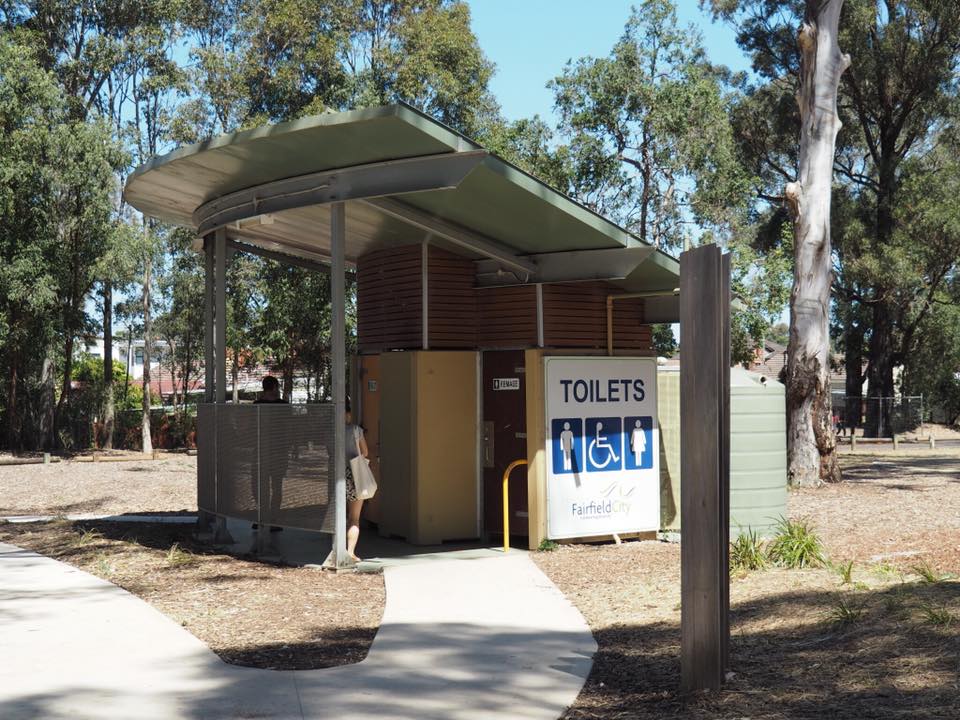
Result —
[[681, 690], [715, 690], [729, 658], [730, 263], [680, 256]]

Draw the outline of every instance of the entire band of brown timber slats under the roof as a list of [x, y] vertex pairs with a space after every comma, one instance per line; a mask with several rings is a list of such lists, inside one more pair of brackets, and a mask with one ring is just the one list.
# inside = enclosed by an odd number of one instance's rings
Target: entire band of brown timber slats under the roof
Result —
[[[472, 260], [428, 247], [429, 347], [472, 349], [536, 347], [536, 286], [476, 287]], [[361, 352], [417, 349], [422, 337], [423, 248], [379, 250], [357, 263], [357, 334]], [[607, 343], [607, 296], [619, 291], [604, 282], [544, 285], [544, 344], [603, 349]], [[613, 304], [614, 347], [652, 352], [652, 330], [643, 324], [643, 300]]]

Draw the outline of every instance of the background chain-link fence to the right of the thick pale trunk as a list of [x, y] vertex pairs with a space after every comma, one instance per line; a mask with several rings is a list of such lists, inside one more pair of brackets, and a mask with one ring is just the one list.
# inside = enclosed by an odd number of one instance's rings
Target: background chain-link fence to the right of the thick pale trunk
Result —
[[837, 433], [863, 437], [893, 437], [920, 430], [923, 425], [923, 395], [857, 397], [832, 393]]

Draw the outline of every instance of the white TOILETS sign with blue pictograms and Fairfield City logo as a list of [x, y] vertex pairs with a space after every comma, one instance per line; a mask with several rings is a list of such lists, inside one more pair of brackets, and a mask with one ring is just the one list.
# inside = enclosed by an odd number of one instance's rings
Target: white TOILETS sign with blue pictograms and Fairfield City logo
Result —
[[547, 536], [660, 529], [660, 438], [653, 358], [551, 357]]

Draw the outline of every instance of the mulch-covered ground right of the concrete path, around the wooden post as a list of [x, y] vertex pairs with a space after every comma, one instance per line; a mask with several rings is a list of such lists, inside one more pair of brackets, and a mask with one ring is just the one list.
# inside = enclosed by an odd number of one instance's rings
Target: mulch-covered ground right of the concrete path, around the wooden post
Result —
[[[893, 462], [893, 464], [889, 464]], [[567, 720], [960, 717], [960, 458], [844, 458], [849, 482], [791, 492], [839, 572], [770, 569], [731, 580], [731, 669], [684, 698], [680, 548], [563, 546], [534, 559], [599, 645]], [[924, 582], [916, 568], [929, 570]]]

